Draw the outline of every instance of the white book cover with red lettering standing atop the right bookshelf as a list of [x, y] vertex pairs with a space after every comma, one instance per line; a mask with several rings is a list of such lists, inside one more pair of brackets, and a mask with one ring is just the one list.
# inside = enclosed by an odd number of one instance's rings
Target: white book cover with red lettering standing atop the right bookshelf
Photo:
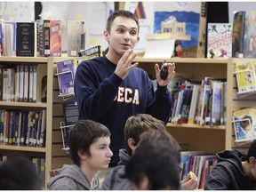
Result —
[[232, 57], [232, 24], [208, 23], [207, 58]]

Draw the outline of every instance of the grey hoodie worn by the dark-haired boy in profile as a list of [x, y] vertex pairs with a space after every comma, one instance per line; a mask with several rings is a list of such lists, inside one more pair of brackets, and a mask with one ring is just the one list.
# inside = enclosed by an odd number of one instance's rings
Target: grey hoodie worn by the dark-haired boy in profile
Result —
[[64, 164], [60, 174], [53, 177], [47, 184], [50, 190], [92, 190], [99, 188], [99, 179], [93, 178], [93, 188], [90, 181], [76, 164]]

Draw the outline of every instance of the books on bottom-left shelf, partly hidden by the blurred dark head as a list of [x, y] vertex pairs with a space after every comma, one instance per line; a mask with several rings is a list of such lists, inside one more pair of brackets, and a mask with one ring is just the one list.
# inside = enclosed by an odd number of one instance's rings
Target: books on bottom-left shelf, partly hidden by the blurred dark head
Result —
[[[0, 154], [0, 164], [8, 159], [8, 156], [1, 156]], [[33, 167], [36, 171], [36, 176], [40, 188], [45, 187], [45, 158], [31, 157], [30, 158]]]

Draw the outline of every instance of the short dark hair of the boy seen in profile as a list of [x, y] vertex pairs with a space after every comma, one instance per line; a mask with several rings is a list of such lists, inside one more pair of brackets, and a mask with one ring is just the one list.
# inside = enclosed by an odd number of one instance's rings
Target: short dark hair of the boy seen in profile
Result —
[[80, 166], [80, 157], [77, 152], [80, 149], [91, 156], [90, 146], [100, 137], [110, 137], [108, 128], [92, 120], [80, 120], [72, 127], [68, 134], [70, 156], [74, 164]]

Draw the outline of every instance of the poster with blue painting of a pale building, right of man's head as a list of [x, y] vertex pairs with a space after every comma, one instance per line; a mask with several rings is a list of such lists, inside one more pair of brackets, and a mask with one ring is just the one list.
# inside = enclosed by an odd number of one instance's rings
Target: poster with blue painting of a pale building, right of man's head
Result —
[[[144, 3], [153, 25], [149, 39], [181, 40], [181, 57], [204, 57], [206, 7], [204, 2]], [[150, 8], [151, 7], [151, 8]]]

